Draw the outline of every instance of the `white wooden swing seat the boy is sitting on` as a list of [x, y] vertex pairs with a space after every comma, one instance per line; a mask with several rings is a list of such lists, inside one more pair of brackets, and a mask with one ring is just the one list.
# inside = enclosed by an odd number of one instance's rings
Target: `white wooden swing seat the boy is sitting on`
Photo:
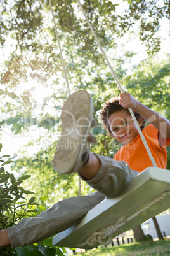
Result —
[[100, 245], [86, 243], [93, 232], [118, 224], [112, 234], [114, 238], [168, 208], [170, 171], [148, 167], [113, 199], [105, 199], [88, 211], [79, 223], [54, 236], [53, 245], [92, 249]]

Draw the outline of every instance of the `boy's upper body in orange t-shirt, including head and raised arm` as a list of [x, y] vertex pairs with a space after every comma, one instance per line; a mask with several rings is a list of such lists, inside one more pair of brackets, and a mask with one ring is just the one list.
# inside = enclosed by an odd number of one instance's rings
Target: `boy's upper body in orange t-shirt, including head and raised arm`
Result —
[[[166, 146], [170, 145], [170, 122], [128, 93], [120, 94], [120, 99], [116, 97], [109, 99], [101, 112], [101, 120], [108, 134], [124, 144], [121, 150], [114, 155], [114, 159], [127, 162], [131, 169], [138, 172], [152, 166], [141, 136], [136, 131], [136, 127], [132, 127], [134, 122], [128, 108], [134, 111], [157, 167], [166, 169]], [[151, 123], [145, 128], [143, 117]]]

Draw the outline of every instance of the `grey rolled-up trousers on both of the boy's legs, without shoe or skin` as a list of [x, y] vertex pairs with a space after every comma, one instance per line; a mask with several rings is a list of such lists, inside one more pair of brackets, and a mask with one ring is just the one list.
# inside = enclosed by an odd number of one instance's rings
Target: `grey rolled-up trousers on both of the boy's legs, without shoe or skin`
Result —
[[100, 171], [93, 180], [86, 182], [98, 191], [88, 196], [70, 197], [59, 201], [40, 215], [25, 218], [15, 226], [9, 227], [8, 236], [12, 248], [37, 243], [72, 227], [105, 197], [112, 198], [121, 192], [138, 174], [132, 171], [126, 162], [96, 156], [101, 161]]

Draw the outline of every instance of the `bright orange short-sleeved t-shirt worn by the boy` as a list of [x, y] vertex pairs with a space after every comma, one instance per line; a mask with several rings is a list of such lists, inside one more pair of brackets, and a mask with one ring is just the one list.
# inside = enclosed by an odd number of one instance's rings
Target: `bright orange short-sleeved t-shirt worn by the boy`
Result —
[[[166, 146], [170, 145], [170, 138], [166, 141], [162, 141], [162, 145], [164, 143], [164, 146], [159, 146], [159, 131], [155, 129], [152, 124], [147, 125], [147, 127], [143, 129], [142, 133], [145, 136], [157, 167], [166, 169]], [[131, 143], [123, 145], [121, 149], [115, 153], [114, 159], [117, 161], [127, 162], [132, 170], [139, 172], [143, 171], [147, 167], [153, 166], [140, 135], [138, 135]]]

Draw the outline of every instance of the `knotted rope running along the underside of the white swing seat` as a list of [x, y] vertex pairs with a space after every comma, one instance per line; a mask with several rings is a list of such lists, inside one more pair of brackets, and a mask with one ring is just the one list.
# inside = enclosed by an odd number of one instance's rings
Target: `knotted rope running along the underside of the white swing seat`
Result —
[[[170, 191], [163, 192], [160, 197], [155, 199], [152, 203], [147, 204], [147, 206], [145, 206], [141, 210], [137, 211], [136, 213], [134, 213], [127, 219], [125, 216], [122, 216], [121, 218], [119, 218], [119, 220], [114, 225], [110, 225], [109, 227], [106, 227], [105, 229], [102, 229], [101, 231], [93, 232], [93, 234], [91, 236], [89, 236], [89, 238], [87, 239], [86, 242], [81, 243], [78, 246], [84, 246], [84, 245], [93, 246], [93, 245], [96, 245], [96, 243], [100, 243], [100, 245], [105, 245], [105, 246], [110, 245], [110, 243], [112, 242], [112, 236], [116, 232], [119, 231], [119, 229], [120, 229], [120, 227], [122, 227], [122, 225], [126, 224], [130, 220], [133, 220], [133, 218], [137, 217], [144, 211], [147, 211], [149, 208], [154, 206], [154, 204], [156, 204], [160, 200], [164, 199], [164, 197], [169, 193], [170, 193]], [[107, 241], [105, 241], [106, 239], [107, 239]]]

